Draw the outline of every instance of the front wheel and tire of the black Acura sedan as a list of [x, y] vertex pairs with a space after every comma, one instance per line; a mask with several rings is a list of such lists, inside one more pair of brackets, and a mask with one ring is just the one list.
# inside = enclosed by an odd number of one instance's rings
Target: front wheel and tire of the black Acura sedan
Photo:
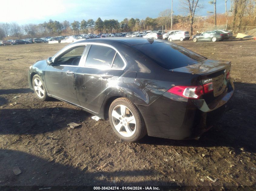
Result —
[[47, 92], [45, 90], [45, 85], [42, 82], [42, 79], [38, 74], [33, 76], [32, 79], [32, 86], [33, 90], [35, 92], [35, 95], [42, 101], [48, 100], [49, 97], [47, 95]]

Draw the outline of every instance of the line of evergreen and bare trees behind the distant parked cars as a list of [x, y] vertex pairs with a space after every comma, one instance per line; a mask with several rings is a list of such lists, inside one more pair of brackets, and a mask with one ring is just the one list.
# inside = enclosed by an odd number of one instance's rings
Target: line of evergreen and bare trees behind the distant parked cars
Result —
[[[215, 24], [226, 24], [226, 29], [235, 31], [241, 30], [242, 25], [256, 26], [256, 0], [213, 0], [209, 3], [213, 5], [213, 9], [209, 10], [208, 18], [201, 18], [196, 12], [203, 8], [202, 0], [182, 0], [180, 11], [184, 15], [173, 15], [174, 28], [189, 30], [191, 35], [194, 28], [204, 19], [207, 22]], [[225, 2], [226, 11], [223, 14], [216, 14], [216, 4]], [[227, 2], [231, 2], [231, 9], [227, 10]], [[102, 21], [99, 17], [96, 21], [93, 19], [82, 21], [45, 21], [40, 24], [24, 24], [17, 23], [0, 23], [0, 39], [8, 38], [25, 38], [25, 37], [42, 37], [42, 36], [59, 36], [72, 35], [81, 33], [117, 33], [143, 30], [159, 30], [170, 29], [171, 26], [171, 10], [166, 9], [159, 13], [159, 17], [145, 19], [124, 18], [119, 22], [115, 19]], [[173, 29], [174, 29], [173, 28]]]

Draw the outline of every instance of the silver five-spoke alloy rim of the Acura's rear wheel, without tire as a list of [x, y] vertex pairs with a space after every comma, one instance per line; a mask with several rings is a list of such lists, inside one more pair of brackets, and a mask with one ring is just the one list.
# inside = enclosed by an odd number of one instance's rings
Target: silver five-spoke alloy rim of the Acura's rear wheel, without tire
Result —
[[117, 132], [124, 137], [131, 137], [136, 130], [135, 116], [124, 105], [117, 105], [111, 112], [112, 122]]

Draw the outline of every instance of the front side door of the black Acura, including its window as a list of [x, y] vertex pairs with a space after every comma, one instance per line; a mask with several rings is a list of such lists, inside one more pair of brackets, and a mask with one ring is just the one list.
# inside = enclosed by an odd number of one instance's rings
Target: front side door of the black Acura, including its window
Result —
[[75, 78], [84, 46], [68, 49], [45, 69], [45, 84], [49, 94], [79, 105], [75, 90]]

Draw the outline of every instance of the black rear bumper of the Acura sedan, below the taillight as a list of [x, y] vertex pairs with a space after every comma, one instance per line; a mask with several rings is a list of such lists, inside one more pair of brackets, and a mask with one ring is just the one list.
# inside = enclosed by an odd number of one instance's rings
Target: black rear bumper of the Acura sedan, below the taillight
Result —
[[218, 100], [215, 107], [207, 107], [204, 100], [191, 100], [165, 92], [149, 106], [138, 105], [149, 136], [170, 139], [193, 139], [210, 129], [232, 105], [234, 85]]

